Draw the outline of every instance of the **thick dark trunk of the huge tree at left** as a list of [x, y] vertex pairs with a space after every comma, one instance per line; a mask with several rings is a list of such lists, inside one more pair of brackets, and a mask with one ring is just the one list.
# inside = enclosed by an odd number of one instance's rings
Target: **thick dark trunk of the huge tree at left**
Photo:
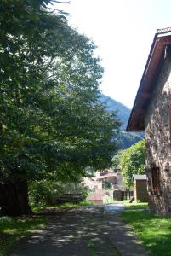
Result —
[[18, 178], [14, 182], [0, 183], [0, 207], [3, 215], [7, 216], [31, 214], [27, 181]]

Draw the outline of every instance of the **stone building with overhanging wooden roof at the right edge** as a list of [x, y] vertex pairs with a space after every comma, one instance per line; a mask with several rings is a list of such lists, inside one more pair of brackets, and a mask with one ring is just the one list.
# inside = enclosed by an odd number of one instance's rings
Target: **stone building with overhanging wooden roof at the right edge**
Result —
[[149, 207], [171, 215], [171, 27], [155, 34], [127, 131], [145, 131]]

